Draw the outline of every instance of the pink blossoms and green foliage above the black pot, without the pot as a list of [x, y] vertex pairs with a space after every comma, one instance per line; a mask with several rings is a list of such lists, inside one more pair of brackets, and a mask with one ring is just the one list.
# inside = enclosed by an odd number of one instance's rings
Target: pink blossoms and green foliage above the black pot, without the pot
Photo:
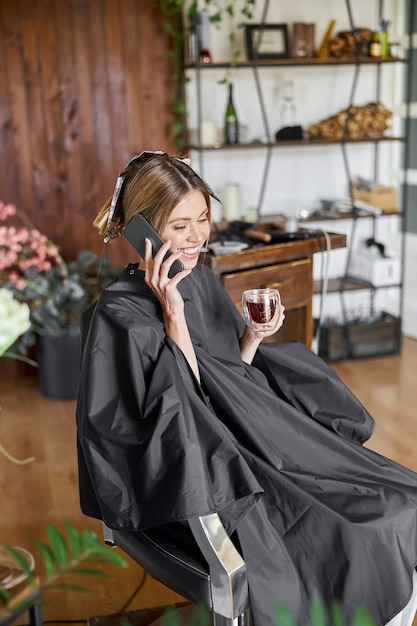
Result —
[[97, 261], [90, 250], [64, 261], [26, 213], [0, 200], [0, 288], [29, 307], [30, 327], [13, 345], [14, 356], [26, 354], [38, 335], [79, 333], [82, 312], [120, 271], [107, 259], [100, 267]]

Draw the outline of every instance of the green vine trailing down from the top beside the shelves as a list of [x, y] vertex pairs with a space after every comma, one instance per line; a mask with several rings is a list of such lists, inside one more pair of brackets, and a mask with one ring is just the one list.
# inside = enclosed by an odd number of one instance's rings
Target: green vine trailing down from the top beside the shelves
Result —
[[[163, 28], [168, 35], [170, 47], [167, 55], [171, 63], [171, 139], [174, 144], [183, 149], [186, 147], [185, 133], [185, 79], [184, 78], [184, 47], [187, 36], [186, 20], [196, 23], [198, 12], [206, 8], [210, 22], [216, 28], [221, 28], [228, 20], [228, 39], [231, 46], [230, 68], [233, 68], [239, 59], [240, 50], [236, 46], [236, 33], [245, 22], [251, 20], [257, 0], [153, 0], [163, 16]], [[220, 83], [230, 82], [230, 72], [226, 71]]]

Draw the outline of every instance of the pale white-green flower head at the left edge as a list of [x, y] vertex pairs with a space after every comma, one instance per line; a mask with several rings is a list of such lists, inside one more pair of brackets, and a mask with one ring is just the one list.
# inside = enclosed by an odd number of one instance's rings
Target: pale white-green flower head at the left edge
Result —
[[0, 356], [30, 328], [30, 309], [8, 289], [0, 289]]

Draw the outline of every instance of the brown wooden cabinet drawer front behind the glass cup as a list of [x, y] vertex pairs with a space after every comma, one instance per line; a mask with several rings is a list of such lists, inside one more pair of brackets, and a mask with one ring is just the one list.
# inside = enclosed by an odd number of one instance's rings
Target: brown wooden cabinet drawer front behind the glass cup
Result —
[[221, 281], [236, 306], [241, 310], [245, 289], [272, 287], [278, 289], [287, 310], [311, 302], [313, 276], [311, 258], [268, 265], [243, 272], [223, 274]]

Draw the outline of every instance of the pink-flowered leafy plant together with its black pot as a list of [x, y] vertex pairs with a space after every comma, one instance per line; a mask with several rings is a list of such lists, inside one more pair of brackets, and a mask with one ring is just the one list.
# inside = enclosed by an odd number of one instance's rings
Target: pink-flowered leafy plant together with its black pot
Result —
[[107, 260], [98, 264], [91, 250], [66, 262], [23, 211], [0, 201], [0, 287], [29, 306], [30, 320], [5, 355], [27, 361], [28, 348], [36, 344], [44, 395], [76, 397], [81, 314], [119, 271]]

